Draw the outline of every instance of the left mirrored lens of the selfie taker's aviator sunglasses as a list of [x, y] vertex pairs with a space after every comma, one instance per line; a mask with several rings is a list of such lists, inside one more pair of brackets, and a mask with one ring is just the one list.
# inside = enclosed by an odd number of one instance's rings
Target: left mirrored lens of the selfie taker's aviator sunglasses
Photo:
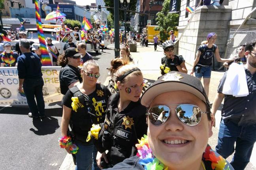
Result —
[[154, 106], [149, 109], [149, 120], [158, 126], [166, 122], [169, 117], [169, 107], [164, 105]]

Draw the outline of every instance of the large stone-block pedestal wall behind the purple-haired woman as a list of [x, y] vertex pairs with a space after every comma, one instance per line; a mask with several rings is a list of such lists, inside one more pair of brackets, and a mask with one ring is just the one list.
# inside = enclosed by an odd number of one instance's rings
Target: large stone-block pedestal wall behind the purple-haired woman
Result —
[[[230, 6], [201, 6], [195, 10], [193, 18], [190, 18], [188, 28], [179, 40], [179, 55], [190, 65], [193, 64], [195, 54], [201, 42], [206, 40], [207, 34], [217, 34], [216, 45], [220, 56], [224, 57], [225, 44], [228, 37], [228, 24], [231, 18]], [[184, 31], [184, 26], [179, 27], [179, 34]], [[220, 65], [215, 61], [215, 65]]]

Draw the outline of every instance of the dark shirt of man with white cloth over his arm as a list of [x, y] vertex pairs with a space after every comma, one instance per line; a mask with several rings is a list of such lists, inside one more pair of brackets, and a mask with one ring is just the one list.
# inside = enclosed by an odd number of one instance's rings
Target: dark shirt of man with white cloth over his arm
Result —
[[[248, 96], [234, 97], [226, 95], [221, 115], [223, 120], [230, 120], [238, 126], [249, 126], [256, 124], [256, 73], [253, 75], [245, 68], [247, 77]], [[218, 92], [222, 93], [227, 73], [220, 80]]]

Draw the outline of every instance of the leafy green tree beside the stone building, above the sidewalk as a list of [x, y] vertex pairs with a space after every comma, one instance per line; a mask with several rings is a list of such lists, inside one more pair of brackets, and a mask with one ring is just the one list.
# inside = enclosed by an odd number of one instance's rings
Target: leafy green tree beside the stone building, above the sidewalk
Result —
[[171, 14], [169, 12], [170, 0], [164, 0], [162, 11], [156, 14], [156, 24], [154, 30], [160, 31], [160, 38], [166, 41], [169, 38], [171, 30], [177, 31], [179, 24], [179, 14]]

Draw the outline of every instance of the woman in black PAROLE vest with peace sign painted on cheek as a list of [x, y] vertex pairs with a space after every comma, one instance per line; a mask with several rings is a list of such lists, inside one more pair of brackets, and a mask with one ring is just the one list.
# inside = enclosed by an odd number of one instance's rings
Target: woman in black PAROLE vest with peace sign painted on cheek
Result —
[[109, 98], [104, 126], [96, 144], [100, 168], [111, 167], [136, 155], [137, 139], [147, 132], [146, 107], [139, 102], [143, 87], [141, 70], [130, 61], [117, 58], [111, 61], [110, 72], [119, 92]]

